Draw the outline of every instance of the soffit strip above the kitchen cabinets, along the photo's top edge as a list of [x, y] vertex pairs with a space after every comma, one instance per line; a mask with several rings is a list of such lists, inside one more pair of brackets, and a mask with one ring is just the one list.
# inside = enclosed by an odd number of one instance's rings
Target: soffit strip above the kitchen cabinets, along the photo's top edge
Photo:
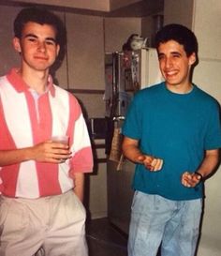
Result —
[[0, 5], [43, 5], [107, 17], [145, 17], [163, 11], [164, 0], [0, 0]]

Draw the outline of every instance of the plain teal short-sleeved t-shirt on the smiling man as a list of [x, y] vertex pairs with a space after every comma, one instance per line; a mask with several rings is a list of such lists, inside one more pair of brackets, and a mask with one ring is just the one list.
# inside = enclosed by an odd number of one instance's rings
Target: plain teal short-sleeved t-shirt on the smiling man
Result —
[[203, 185], [186, 188], [185, 171], [195, 172], [205, 150], [221, 147], [219, 105], [194, 85], [188, 94], [170, 92], [165, 83], [140, 90], [126, 114], [123, 134], [139, 140], [140, 150], [162, 158], [159, 172], [136, 165], [133, 188], [170, 200], [191, 200], [203, 196]]

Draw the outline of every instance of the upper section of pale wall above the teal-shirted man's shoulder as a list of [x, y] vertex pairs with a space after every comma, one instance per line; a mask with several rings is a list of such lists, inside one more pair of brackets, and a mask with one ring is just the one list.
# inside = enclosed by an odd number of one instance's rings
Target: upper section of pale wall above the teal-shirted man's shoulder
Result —
[[196, 0], [193, 25], [199, 40], [199, 66], [194, 81], [221, 103], [221, 1]]

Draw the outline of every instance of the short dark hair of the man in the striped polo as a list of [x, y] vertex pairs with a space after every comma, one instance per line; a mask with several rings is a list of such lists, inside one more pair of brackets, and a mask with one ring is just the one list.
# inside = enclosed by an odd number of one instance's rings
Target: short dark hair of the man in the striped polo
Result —
[[14, 36], [22, 37], [22, 30], [25, 23], [49, 24], [54, 27], [56, 32], [56, 43], [62, 44], [65, 26], [64, 23], [54, 13], [45, 8], [23, 8], [14, 21]]

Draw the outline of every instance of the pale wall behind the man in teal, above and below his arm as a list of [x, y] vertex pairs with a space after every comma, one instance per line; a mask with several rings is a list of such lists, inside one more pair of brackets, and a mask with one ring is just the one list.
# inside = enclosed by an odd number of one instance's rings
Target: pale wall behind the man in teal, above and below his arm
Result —
[[[195, 0], [193, 30], [199, 38], [194, 80], [221, 103], [221, 1]], [[221, 167], [206, 181], [205, 213], [198, 256], [221, 255]]]

